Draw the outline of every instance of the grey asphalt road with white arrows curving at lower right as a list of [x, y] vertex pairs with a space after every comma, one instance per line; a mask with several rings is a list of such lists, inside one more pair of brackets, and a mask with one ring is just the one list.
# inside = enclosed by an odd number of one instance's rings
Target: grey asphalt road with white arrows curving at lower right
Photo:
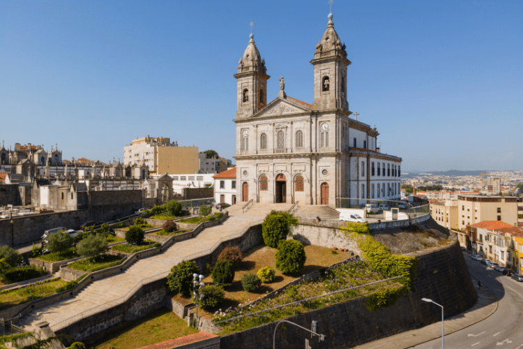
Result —
[[[446, 335], [445, 348], [523, 349], [523, 283], [471, 260], [468, 254], [464, 258], [473, 282], [479, 279], [494, 292], [498, 309], [485, 320]], [[413, 348], [441, 348], [441, 337]]]

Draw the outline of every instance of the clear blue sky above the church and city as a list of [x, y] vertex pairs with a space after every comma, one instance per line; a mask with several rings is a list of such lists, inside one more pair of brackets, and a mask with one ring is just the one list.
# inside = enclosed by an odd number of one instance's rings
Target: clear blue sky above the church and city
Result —
[[[122, 158], [136, 137], [235, 154], [249, 23], [268, 101], [312, 103], [327, 1], [0, 2], [0, 142]], [[333, 4], [348, 100], [404, 171], [522, 170], [523, 1]], [[1, 144], [1, 143], [0, 143]]]

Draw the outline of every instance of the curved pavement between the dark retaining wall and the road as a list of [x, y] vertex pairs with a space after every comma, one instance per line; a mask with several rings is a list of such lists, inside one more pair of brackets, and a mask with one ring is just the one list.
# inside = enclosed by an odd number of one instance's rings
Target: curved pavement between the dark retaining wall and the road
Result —
[[[478, 292], [478, 302], [471, 309], [445, 319], [445, 334], [459, 331], [476, 322], [485, 320], [498, 309], [498, 301], [491, 290], [485, 286], [481, 290], [478, 290], [477, 285], [475, 287], [476, 292]], [[365, 343], [354, 347], [354, 349], [405, 349], [437, 338], [441, 338], [441, 321], [420, 329], [411, 329], [394, 336]]]

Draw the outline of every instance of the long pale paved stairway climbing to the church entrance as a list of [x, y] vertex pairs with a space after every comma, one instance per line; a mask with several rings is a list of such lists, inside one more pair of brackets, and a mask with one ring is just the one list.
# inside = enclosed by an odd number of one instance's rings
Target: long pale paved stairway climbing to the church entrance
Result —
[[206, 251], [212, 248], [220, 238], [241, 232], [252, 222], [262, 221], [272, 209], [287, 211], [291, 207], [291, 204], [255, 204], [252, 209], [243, 214], [243, 205], [244, 203], [240, 203], [229, 207], [229, 218], [226, 221], [202, 230], [197, 237], [176, 242], [160, 255], [137, 260], [121, 274], [93, 281], [74, 297], [32, 311], [24, 318], [22, 327], [32, 329], [37, 322], [41, 321], [38, 320], [40, 317], [43, 317], [43, 320], [52, 326], [91, 309], [93, 306], [121, 297], [142, 279], [169, 272], [186, 256]]

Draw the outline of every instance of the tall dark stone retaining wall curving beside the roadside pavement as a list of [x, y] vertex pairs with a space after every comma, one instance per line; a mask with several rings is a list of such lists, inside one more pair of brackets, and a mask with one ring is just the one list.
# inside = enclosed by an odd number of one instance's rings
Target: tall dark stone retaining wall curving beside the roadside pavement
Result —
[[[394, 306], [367, 311], [365, 298], [359, 298], [287, 320], [305, 328], [310, 328], [312, 320], [317, 320], [317, 332], [326, 335], [321, 348], [341, 349], [441, 320], [439, 306], [422, 302], [423, 297], [444, 304], [446, 317], [461, 313], [476, 303], [476, 290], [457, 242], [412, 255], [418, 258], [418, 277], [411, 292]], [[273, 348], [275, 325], [273, 322], [222, 336], [220, 348]], [[278, 328], [276, 341], [280, 348], [303, 348], [304, 339], [310, 339], [308, 332], [293, 325]]]

